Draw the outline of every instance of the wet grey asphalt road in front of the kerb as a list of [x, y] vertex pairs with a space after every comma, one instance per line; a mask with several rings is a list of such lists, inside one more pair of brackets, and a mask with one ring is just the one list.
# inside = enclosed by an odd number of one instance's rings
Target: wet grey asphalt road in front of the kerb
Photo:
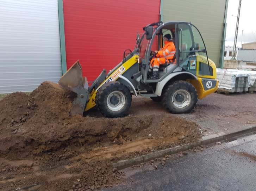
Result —
[[[105, 191], [253, 191], [256, 190], [256, 135], [207, 145], [142, 167], [124, 169], [124, 185]], [[157, 165], [157, 169], [155, 169]]]

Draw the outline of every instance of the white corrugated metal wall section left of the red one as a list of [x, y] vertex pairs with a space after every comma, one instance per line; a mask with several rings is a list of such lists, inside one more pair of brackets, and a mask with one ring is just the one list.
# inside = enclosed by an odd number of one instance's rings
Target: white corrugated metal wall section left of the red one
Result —
[[57, 0], [0, 0], [0, 94], [62, 75]]

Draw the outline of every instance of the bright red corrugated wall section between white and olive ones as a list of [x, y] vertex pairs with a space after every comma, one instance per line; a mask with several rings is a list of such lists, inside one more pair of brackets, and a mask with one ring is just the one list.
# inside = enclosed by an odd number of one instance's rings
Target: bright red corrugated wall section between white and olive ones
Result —
[[134, 49], [137, 31], [159, 21], [160, 0], [63, 0], [63, 12], [67, 69], [79, 60], [93, 81]]

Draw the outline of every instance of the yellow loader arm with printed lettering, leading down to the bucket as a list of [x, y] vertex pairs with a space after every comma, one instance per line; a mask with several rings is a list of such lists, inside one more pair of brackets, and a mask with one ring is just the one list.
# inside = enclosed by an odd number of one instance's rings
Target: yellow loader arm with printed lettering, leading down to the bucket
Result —
[[93, 108], [96, 105], [95, 96], [99, 88], [107, 82], [116, 81], [119, 78], [119, 75], [122, 75], [127, 69], [129, 69], [131, 66], [133, 66], [133, 64], [135, 64], [138, 61], [138, 58], [139, 58], [138, 55], [131, 57], [129, 60], [123, 63], [120, 67], [118, 67], [111, 75], [109, 75], [107, 79], [104, 82], [102, 82], [96, 90], [93, 90], [92, 93], [90, 94], [85, 111], [88, 111], [89, 109]]

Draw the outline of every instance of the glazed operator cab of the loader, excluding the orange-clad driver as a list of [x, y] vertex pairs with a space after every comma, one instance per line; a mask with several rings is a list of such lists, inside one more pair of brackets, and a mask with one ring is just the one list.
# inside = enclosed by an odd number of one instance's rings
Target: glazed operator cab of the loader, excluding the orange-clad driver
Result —
[[[135, 49], [139, 52], [139, 65], [143, 82], [158, 82], [170, 73], [188, 71], [198, 77], [214, 79], [212, 61], [208, 59], [205, 43], [199, 30], [187, 22], [157, 22], [143, 28], [145, 33], [137, 35]], [[158, 79], [150, 79], [150, 61], [155, 58], [155, 50], [164, 46], [163, 37], [170, 34], [176, 48], [172, 62], [160, 64]], [[214, 65], [214, 64], [212, 64]]]

